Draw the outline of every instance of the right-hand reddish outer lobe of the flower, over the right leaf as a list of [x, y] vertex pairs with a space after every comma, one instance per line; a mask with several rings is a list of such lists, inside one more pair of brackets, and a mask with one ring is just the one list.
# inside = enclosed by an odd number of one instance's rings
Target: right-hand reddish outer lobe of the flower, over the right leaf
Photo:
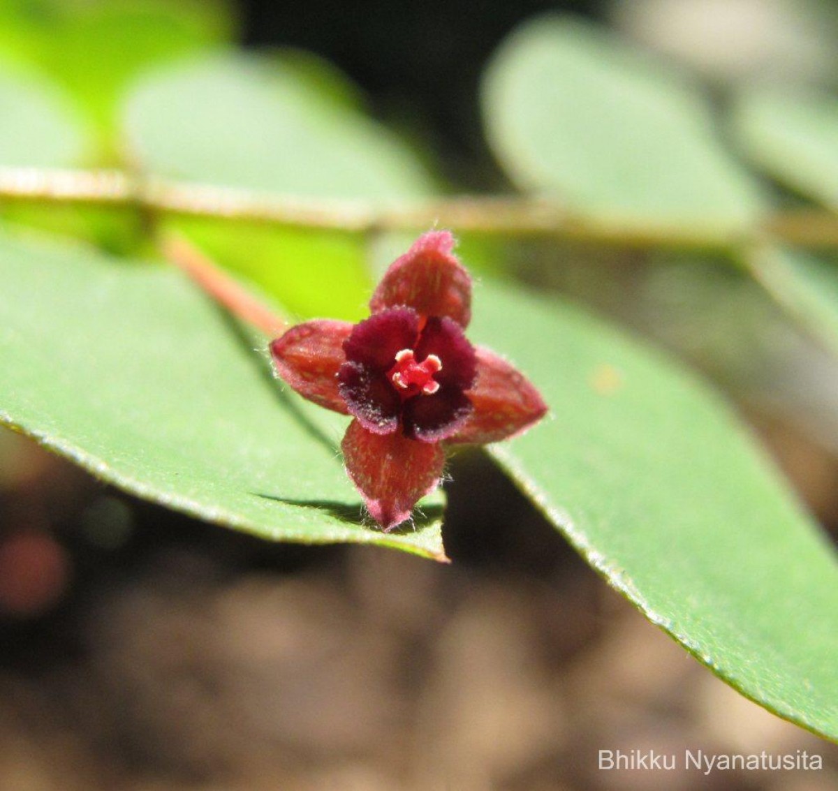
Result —
[[489, 349], [477, 347], [477, 384], [468, 390], [472, 415], [448, 442], [498, 442], [545, 416], [547, 405], [525, 375]]

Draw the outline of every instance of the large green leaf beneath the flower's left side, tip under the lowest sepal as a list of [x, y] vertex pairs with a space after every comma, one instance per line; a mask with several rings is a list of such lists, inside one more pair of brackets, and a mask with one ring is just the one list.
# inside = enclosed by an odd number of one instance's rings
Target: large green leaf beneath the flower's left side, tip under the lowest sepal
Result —
[[346, 418], [282, 394], [178, 271], [0, 237], [0, 282], [0, 423], [220, 525], [444, 558], [439, 496], [415, 531], [363, 524], [336, 451]]

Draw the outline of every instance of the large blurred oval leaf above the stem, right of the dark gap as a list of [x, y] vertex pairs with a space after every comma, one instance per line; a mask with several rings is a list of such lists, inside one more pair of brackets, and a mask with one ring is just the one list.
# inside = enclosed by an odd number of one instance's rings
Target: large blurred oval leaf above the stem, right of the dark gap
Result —
[[631, 222], [736, 230], [763, 210], [693, 86], [603, 29], [525, 23], [484, 80], [489, 141], [524, 189]]

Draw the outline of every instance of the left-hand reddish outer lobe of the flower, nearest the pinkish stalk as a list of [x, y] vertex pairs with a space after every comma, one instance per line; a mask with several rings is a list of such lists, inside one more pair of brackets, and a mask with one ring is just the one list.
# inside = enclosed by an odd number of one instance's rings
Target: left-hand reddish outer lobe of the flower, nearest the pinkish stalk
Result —
[[349, 322], [329, 319], [297, 324], [271, 342], [277, 375], [308, 401], [346, 415], [337, 375], [351, 332]]

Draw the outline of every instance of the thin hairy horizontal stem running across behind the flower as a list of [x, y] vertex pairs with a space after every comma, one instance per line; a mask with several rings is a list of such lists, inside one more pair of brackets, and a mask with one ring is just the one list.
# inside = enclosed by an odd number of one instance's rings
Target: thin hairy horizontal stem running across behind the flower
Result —
[[13, 201], [134, 207], [151, 215], [212, 217], [349, 234], [446, 225], [462, 232], [639, 248], [727, 252], [755, 240], [838, 248], [838, 215], [826, 211], [776, 214], [743, 233], [701, 223], [649, 223], [629, 216], [580, 215], [548, 200], [463, 196], [380, 209], [357, 201], [300, 199], [132, 178], [116, 170], [0, 168], [0, 204]]

